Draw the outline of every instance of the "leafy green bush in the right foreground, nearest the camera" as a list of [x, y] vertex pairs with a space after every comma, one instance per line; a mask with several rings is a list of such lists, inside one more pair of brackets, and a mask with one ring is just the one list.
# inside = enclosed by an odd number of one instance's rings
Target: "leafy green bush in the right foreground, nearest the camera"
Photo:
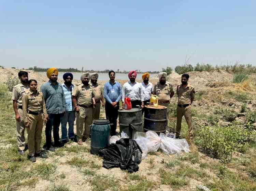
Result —
[[244, 152], [250, 140], [250, 131], [244, 127], [205, 127], [196, 140], [199, 149], [224, 163], [231, 160], [234, 152]]

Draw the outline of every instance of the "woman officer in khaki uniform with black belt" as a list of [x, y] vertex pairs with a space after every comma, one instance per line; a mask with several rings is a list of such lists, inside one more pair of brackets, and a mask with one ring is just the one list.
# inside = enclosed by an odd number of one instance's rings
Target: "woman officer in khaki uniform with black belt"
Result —
[[25, 126], [28, 131], [28, 159], [35, 162], [35, 157], [47, 158], [41, 152], [43, 122], [46, 123], [46, 112], [43, 93], [37, 90], [37, 81], [29, 80], [30, 90], [22, 96], [22, 108]]

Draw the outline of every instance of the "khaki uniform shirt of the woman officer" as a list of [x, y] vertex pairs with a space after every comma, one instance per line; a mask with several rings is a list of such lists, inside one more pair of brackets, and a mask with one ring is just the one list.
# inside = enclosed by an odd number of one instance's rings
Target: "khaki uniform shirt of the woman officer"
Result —
[[28, 111], [40, 112], [43, 110], [44, 118], [47, 118], [47, 112], [44, 102], [43, 93], [41, 91], [26, 91], [22, 96], [22, 108], [25, 122], [28, 118]]

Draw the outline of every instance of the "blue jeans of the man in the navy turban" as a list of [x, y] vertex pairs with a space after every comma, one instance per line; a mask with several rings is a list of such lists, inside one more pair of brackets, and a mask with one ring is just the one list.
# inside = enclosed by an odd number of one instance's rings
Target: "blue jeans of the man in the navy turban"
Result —
[[60, 118], [61, 121], [61, 140], [67, 138], [67, 123], [69, 123], [69, 138], [74, 138], [75, 111], [66, 111], [66, 114]]

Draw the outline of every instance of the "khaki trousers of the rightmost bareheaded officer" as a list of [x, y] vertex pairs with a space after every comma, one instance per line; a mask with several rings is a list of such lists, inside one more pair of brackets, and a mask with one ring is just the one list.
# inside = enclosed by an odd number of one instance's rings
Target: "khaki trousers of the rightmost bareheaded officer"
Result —
[[177, 106], [177, 125], [176, 125], [176, 136], [180, 136], [181, 134], [181, 120], [182, 117], [185, 117], [187, 125], [189, 137], [193, 138], [193, 126], [192, 126], [192, 117], [191, 117], [191, 106], [187, 107], [179, 107]]

